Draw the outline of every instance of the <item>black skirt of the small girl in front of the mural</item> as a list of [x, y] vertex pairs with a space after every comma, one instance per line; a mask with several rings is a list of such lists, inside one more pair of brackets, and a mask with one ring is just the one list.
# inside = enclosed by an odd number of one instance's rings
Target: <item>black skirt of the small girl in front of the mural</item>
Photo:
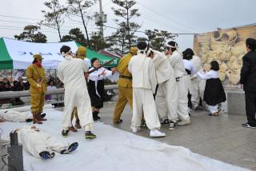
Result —
[[207, 105], [218, 105], [219, 103], [226, 101], [226, 94], [219, 78], [210, 78], [206, 80], [203, 101], [206, 101]]

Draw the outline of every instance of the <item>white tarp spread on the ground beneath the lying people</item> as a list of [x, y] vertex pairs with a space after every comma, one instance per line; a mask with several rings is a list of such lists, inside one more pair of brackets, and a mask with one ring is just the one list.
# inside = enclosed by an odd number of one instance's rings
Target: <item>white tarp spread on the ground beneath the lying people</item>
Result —
[[[94, 133], [98, 136], [95, 140], [84, 139], [82, 129], [64, 138], [61, 135], [62, 112], [57, 109], [45, 109], [45, 112], [48, 121], [37, 126], [65, 143], [78, 141], [78, 150], [67, 155], [57, 154], [49, 161], [42, 161], [23, 151], [26, 171], [247, 170], [192, 153], [190, 149], [139, 137], [100, 122], [94, 124]], [[26, 123], [0, 123], [4, 135], [24, 125]]]

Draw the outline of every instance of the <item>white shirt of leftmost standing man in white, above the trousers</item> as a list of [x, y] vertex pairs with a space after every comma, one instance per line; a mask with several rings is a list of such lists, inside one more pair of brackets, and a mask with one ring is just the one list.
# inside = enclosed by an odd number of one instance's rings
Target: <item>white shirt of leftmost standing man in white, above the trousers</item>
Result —
[[64, 58], [58, 65], [58, 78], [64, 83], [65, 89], [87, 89], [84, 73], [88, 66], [80, 58]]

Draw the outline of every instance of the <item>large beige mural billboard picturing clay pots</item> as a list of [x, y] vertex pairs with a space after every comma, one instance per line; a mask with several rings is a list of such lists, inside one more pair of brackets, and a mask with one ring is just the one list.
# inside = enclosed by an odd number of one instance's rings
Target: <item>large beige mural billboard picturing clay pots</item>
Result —
[[256, 24], [197, 34], [194, 36], [194, 52], [201, 58], [204, 70], [210, 70], [211, 61], [218, 61], [218, 74], [223, 85], [238, 88], [246, 38], [256, 38]]

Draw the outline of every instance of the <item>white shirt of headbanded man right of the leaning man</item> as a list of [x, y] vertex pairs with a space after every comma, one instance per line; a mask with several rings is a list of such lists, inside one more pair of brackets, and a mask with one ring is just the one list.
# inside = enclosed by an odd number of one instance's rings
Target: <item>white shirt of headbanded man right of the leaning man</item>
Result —
[[184, 68], [182, 55], [179, 54], [177, 50], [175, 50], [172, 55], [168, 55], [167, 58], [169, 59], [170, 65], [174, 68], [175, 78], [180, 78], [187, 75]]

